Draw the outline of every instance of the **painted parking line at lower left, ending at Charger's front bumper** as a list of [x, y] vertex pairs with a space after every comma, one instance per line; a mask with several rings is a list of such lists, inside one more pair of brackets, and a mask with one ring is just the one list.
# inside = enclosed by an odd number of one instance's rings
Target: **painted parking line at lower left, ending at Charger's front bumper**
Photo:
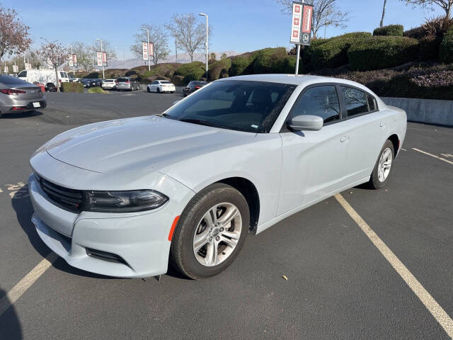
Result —
[[58, 259], [58, 255], [52, 251], [1, 298], [0, 317], [9, 307], [11, 307], [11, 305], [14, 305], [18, 298], [21, 297], [50, 266], [52, 266], [52, 263], [54, 263], [56, 259]]

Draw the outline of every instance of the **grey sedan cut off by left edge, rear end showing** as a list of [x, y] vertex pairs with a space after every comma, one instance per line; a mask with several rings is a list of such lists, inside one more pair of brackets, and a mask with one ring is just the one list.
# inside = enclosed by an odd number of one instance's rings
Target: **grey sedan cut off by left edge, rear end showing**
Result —
[[47, 101], [40, 86], [11, 76], [0, 76], [0, 114], [44, 109]]

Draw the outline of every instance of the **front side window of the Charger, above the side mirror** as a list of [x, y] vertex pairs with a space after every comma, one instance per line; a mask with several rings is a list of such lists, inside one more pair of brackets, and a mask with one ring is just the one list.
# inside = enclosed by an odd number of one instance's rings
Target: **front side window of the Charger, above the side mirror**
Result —
[[340, 102], [335, 86], [316, 86], [304, 92], [292, 109], [296, 115], [318, 115], [324, 123], [340, 119]]

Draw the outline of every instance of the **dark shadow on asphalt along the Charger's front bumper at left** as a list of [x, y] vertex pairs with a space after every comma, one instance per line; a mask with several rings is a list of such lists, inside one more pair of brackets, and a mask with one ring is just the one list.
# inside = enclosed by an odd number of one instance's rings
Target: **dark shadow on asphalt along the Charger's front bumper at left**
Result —
[[[50, 254], [51, 250], [48, 246], [38, 236], [35, 226], [31, 222], [31, 217], [33, 216], [33, 205], [30, 201], [30, 196], [28, 194], [28, 185], [21, 188], [21, 190], [14, 193], [13, 198], [11, 199], [11, 205], [13, 206], [14, 211], [16, 212], [17, 220], [19, 225], [21, 225], [23, 231], [28, 236], [30, 243], [33, 245], [36, 251], [43, 258]], [[81, 269], [74, 268], [69, 266], [69, 264], [64, 261], [64, 259], [58, 258], [57, 261], [52, 263], [54, 268], [64, 271], [69, 274], [76, 276], [86, 276], [88, 278], [105, 278], [113, 279], [110, 276], [98, 275], [96, 273], [90, 273], [88, 271], [82, 271]], [[0, 333], [1, 335], [1, 333]], [[0, 336], [1, 339], [1, 336]]]

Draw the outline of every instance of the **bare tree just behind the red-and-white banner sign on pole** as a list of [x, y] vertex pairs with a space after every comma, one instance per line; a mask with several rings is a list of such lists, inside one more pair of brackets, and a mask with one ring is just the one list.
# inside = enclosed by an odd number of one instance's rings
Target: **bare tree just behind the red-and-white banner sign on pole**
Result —
[[[284, 6], [283, 12], [292, 14], [292, 0], [277, 0], [277, 3]], [[311, 32], [314, 39], [316, 39], [321, 28], [327, 28], [328, 26], [348, 27], [346, 22], [349, 21], [349, 12], [340, 11], [336, 0], [314, 0], [312, 4], [314, 6], [314, 18]]]

